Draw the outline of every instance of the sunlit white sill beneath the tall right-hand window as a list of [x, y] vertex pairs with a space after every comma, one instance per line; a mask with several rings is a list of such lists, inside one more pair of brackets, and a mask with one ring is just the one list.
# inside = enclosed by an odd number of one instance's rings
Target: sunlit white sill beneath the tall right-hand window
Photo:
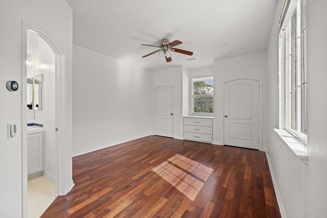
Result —
[[305, 144], [291, 135], [285, 129], [274, 128], [275, 132], [279, 137], [283, 139], [285, 144], [294, 152], [294, 154], [303, 161], [308, 161], [308, 156], [306, 155]]

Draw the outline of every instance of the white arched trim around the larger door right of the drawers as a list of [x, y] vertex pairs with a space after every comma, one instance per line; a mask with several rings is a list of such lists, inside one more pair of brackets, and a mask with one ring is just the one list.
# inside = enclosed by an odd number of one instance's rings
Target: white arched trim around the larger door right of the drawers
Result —
[[[224, 81], [223, 85], [225, 85], [225, 83], [227, 82], [231, 82], [234, 80], [239, 80], [239, 79], [251, 79], [251, 80], [256, 80], [259, 81], [259, 150], [263, 150], [263, 125], [262, 125], [262, 120], [263, 120], [263, 116], [262, 116], [262, 78], [258, 78], [258, 77], [248, 77], [248, 76], [243, 76], [243, 77], [236, 77], [233, 79], [228, 79], [226, 81]], [[223, 95], [225, 96], [225, 91], [223, 89]], [[224, 128], [225, 124], [223, 123], [223, 136], [225, 135], [225, 128]], [[225, 137], [223, 137], [223, 144], [225, 144]]]

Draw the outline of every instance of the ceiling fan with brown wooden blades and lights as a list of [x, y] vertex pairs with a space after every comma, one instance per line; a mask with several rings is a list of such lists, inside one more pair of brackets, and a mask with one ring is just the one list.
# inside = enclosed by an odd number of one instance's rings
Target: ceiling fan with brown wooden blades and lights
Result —
[[186, 55], [193, 55], [193, 52], [182, 50], [182, 49], [173, 48], [175, 46], [180, 45], [181, 43], [183, 43], [183, 42], [181, 42], [179, 40], [175, 40], [175, 41], [170, 42], [167, 38], [165, 38], [165, 39], [162, 39], [160, 41], [159, 46], [141, 44], [141, 46], [151, 46], [151, 47], [157, 47], [157, 48], [159, 48], [158, 50], [156, 50], [154, 52], [151, 52], [151, 53], [149, 53], [147, 55], [144, 55], [142, 57], [148, 57], [149, 55], [152, 55], [154, 53], [159, 52], [159, 55], [160, 56], [164, 56], [165, 55], [166, 61], [167, 62], [170, 62], [170, 61], [172, 61], [172, 57], [171, 57], [171, 53], [170, 53], [171, 51], [172, 52], [178, 52], [178, 53], [181, 53], [181, 54], [186, 54]]

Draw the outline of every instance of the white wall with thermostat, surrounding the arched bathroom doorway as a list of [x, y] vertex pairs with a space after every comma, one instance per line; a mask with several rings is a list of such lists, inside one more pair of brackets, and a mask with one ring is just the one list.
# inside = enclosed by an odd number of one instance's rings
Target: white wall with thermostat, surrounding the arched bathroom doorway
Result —
[[[21, 217], [27, 214], [23, 209], [22, 192], [26, 191], [27, 166], [22, 163], [22, 128], [21, 126], [21, 89], [9, 92], [8, 80], [16, 80], [21, 87], [21, 19], [28, 18], [52, 33], [53, 39], [65, 54], [65, 68], [71, 74], [72, 63], [72, 10], [64, 0], [11, 0], [0, 1], [0, 96], [2, 112], [0, 113], [0, 217]], [[26, 82], [26, 81], [24, 81]], [[68, 102], [69, 105], [69, 90]], [[68, 106], [69, 107], [69, 106]], [[71, 111], [67, 109], [67, 119]], [[7, 139], [7, 123], [17, 125], [15, 138]], [[69, 144], [71, 126], [67, 126]], [[24, 137], [23, 137], [24, 138]], [[26, 139], [26, 137], [24, 138]], [[68, 149], [69, 150], [69, 149]], [[69, 155], [69, 154], [68, 154]], [[68, 163], [68, 162], [67, 162]], [[64, 163], [65, 165], [69, 165]], [[24, 173], [25, 171], [25, 173]], [[68, 172], [71, 175], [71, 173]], [[68, 176], [69, 177], [69, 176]], [[23, 182], [23, 180], [26, 182]]]

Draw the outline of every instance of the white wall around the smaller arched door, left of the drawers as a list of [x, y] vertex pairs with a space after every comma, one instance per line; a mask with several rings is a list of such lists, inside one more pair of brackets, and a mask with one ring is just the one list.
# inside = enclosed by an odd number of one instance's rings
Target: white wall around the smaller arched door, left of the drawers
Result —
[[174, 138], [183, 139], [183, 67], [153, 70], [151, 74], [152, 98], [156, 87], [164, 85], [174, 87]]

